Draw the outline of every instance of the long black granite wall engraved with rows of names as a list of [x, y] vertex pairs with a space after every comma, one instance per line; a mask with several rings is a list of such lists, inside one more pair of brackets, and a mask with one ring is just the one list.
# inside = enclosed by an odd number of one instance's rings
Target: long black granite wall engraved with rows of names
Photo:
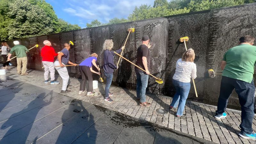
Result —
[[[191, 83], [189, 100], [199, 101], [205, 104], [217, 105], [221, 76], [209, 78], [207, 70], [214, 69], [221, 73], [220, 62], [223, 54], [231, 47], [237, 45], [239, 37], [252, 35], [256, 37], [256, 4], [213, 9], [202, 12], [167, 16], [148, 20], [126, 22], [116, 25], [86, 28], [64, 33], [37, 36], [18, 39], [28, 48], [39, 44], [38, 48], [28, 53], [28, 68], [43, 71], [40, 50], [43, 41], [48, 39], [56, 52], [63, 48], [63, 43], [73, 41], [74, 46], [70, 50], [70, 61], [80, 63], [96, 52], [99, 56], [97, 62], [103, 71], [103, 43], [106, 39], [114, 42], [113, 51], [124, 45], [128, 35], [128, 28], [135, 28], [130, 33], [124, 50], [124, 57], [132, 62], [136, 61], [137, 48], [141, 44], [141, 37], [147, 34], [150, 44], [150, 72], [163, 79], [163, 84], [157, 84], [155, 79], [149, 76], [147, 92], [173, 97], [175, 90], [172, 86], [172, 76], [175, 73], [175, 64], [185, 52], [184, 43], [179, 38], [188, 36], [187, 48], [193, 48], [196, 53], [197, 78], [195, 79], [198, 98]], [[13, 40], [7, 42], [11, 47]], [[117, 63], [119, 57], [115, 56]], [[1, 58], [3, 62], [3, 59]], [[16, 60], [12, 60], [15, 65]], [[68, 67], [71, 77], [79, 78], [77, 67]], [[95, 79], [99, 76], [94, 75]], [[256, 76], [254, 76], [254, 79]], [[43, 80], [42, 80], [43, 81]], [[134, 66], [126, 60], [120, 61], [119, 68], [114, 72], [113, 82], [118, 86], [134, 89], [136, 76]], [[229, 99], [228, 108], [240, 109], [238, 97], [233, 92]]]

